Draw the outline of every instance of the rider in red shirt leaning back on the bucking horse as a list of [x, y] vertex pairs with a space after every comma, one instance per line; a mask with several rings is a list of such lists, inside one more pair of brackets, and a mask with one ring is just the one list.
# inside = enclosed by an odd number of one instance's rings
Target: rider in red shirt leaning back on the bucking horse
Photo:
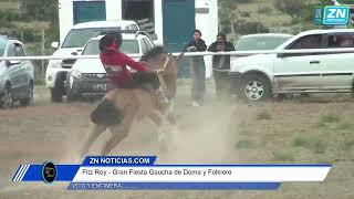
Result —
[[[152, 94], [156, 93], [159, 88], [159, 80], [155, 71], [148, 69], [145, 63], [136, 62], [119, 52], [121, 45], [121, 32], [110, 32], [100, 40], [100, 59], [113, 86], [119, 88], [142, 87]], [[137, 72], [132, 73], [127, 66]]]

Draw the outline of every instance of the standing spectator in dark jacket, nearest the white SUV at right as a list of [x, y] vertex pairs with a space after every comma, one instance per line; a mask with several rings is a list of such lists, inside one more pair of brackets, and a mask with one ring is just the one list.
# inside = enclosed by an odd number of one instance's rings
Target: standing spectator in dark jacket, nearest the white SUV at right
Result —
[[[208, 51], [211, 52], [227, 52], [235, 51], [231, 42], [228, 42], [223, 33], [218, 33], [217, 41], [214, 42]], [[228, 72], [230, 71], [230, 55], [215, 55], [212, 56], [212, 73], [216, 85], [216, 93], [219, 100], [231, 96], [230, 82]]]

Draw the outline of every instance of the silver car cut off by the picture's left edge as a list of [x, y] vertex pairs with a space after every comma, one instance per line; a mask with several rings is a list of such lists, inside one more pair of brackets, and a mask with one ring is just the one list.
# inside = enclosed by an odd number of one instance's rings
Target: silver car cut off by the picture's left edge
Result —
[[[0, 35], [0, 56], [25, 56], [23, 43]], [[33, 103], [33, 65], [30, 61], [0, 61], [0, 107]]]

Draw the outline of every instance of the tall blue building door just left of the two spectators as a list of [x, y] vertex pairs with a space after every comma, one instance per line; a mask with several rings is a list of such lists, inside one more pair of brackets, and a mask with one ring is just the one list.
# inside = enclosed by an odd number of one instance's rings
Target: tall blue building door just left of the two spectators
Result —
[[[164, 44], [168, 52], [180, 52], [196, 28], [194, 0], [164, 0]], [[189, 59], [185, 59], [180, 76], [189, 76]]]

